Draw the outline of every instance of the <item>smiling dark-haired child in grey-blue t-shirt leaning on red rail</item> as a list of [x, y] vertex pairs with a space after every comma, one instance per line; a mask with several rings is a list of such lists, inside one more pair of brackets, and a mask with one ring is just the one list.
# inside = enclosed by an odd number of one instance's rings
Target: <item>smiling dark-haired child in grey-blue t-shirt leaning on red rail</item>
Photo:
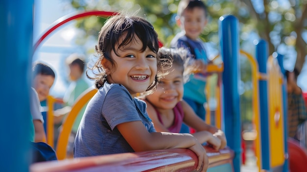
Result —
[[[137, 93], [152, 93], [164, 64], [153, 25], [136, 16], [117, 14], [102, 26], [97, 61], [87, 72], [99, 89], [89, 101], [75, 140], [75, 157], [189, 148], [198, 156], [197, 170], [205, 172], [205, 148], [191, 134], [156, 132]], [[167, 65], [168, 66], [168, 65]], [[203, 166], [203, 167], [202, 167]]]

